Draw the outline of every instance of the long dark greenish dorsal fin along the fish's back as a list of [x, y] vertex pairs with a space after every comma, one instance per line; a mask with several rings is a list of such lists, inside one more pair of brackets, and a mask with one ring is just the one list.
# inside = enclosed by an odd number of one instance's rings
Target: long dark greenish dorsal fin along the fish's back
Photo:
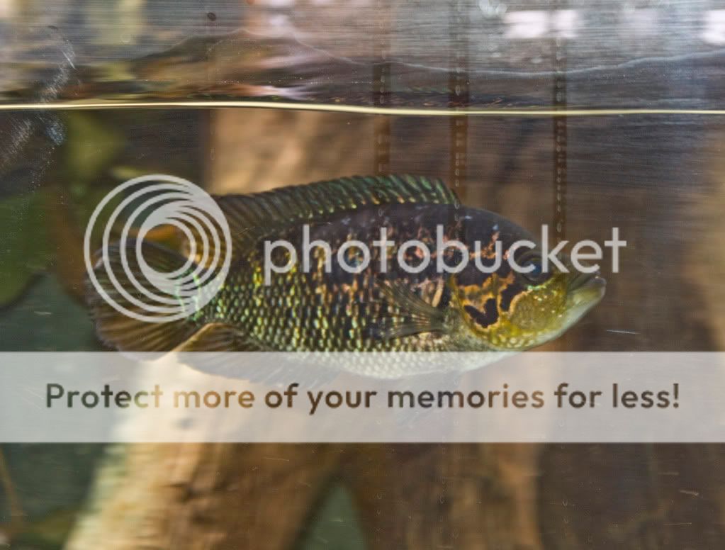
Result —
[[227, 217], [237, 251], [290, 223], [326, 214], [381, 204], [458, 204], [442, 180], [413, 175], [352, 176], [215, 200]]

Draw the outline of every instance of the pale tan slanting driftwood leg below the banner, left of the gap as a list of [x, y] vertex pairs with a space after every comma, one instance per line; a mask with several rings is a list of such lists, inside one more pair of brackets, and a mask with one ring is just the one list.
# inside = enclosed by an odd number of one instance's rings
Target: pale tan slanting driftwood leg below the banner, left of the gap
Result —
[[289, 548], [335, 462], [325, 446], [113, 446], [67, 548]]

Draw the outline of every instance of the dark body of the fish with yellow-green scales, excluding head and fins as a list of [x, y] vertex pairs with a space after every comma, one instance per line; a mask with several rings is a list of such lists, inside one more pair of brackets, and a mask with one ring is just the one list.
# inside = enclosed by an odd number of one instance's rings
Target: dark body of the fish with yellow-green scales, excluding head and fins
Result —
[[[442, 228], [446, 240], [466, 243], [471, 238], [481, 241], [485, 254], [495, 238], [515, 238], [515, 228], [502, 217], [477, 209], [448, 204], [393, 204], [368, 207], [356, 212], [342, 212], [307, 225], [308, 243], [328, 243], [330, 267], [326, 251], [310, 249], [308, 270], [302, 265], [302, 224], [295, 224], [277, 235], [294, 246], [297, 262], [286, 273], [273, 273], [265, 284], [264, 241], [260, 239], [244, 258], [233, 267], [210, 310], [200, 316], [205, 322], [230, 322], [243, 328], [265, 349], [284, 351], [447, 351], [461, 349], [455, 336], [444, 330], [421, 332], [404, 338], [386, 338], [394, 322], [405, 325], [412, 321], [402, 304], [390, 299], [388, 288], [410, 288], [440, 312], [450, 307], [451, 289], [448, 276], [436, 268], [436, 231]], [[385, 247], [385, 265], [381, 262], [381, 230], [392, 246]], [[397, 261], [399, 246], [416, 240], [431, 251], [428, 267], [418, 273], [405, 270]], [[368, 267], [358, 273], [349, 272], [339, 262], [338, 251], [344, 243], [359, 241], [370, 251]], [[473, 243], [471, 243], [473, 251]], [[272, 260], [276, 265], [289, 261], [286, 249], [276, 248]], [[351, 247], [343, 256], [345, 264], [355, 266], [365, 260], [360, 249]], [[446, 254], [446, 262], [455, 265], [460, 258], [455, 251]], [[418, 248], [409, 248], [406, 264], [421, 264]], [[384, 269], [384, 267], [386, 269]], [[508, 264], [505, 270], [508, 270]], [[501, 272], [506, 277], [508, 273]], [[465, 284], [482, 285], [487, 275], [472, 262], [458, 275]]]

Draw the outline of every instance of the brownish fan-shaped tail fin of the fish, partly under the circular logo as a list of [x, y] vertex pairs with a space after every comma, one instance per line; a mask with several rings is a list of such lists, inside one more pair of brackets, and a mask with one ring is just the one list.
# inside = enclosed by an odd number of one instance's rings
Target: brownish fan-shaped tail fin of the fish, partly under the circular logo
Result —
[[181, 280], [194, 270], [186, 263], [181, 254], [149, 241], [116, 243], [96, 254], [87, 296], [101, 341], [122, 351], [170, 351], [196, 333], [194, 308], [185, 309], [173, 280], [155, 275], [178, 271]]

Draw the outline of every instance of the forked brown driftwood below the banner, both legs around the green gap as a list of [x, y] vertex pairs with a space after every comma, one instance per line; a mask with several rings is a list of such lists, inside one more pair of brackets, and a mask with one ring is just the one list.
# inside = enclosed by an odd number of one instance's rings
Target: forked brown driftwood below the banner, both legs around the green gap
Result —
[[536, 549], [536, 456], [525, 445], [112, 446], [67, 548], [288, 549], [344, 483], [370, 548]]

